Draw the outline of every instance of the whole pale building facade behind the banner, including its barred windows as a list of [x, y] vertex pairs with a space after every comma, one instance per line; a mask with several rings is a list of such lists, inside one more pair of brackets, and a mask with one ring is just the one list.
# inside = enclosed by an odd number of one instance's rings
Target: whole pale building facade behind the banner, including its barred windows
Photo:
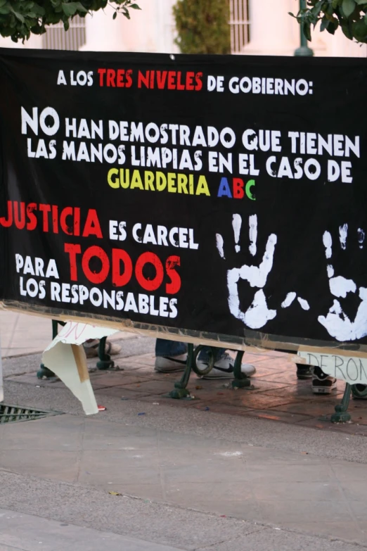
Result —
[[[53, 25], [41, 37], [26, 44], [0, 39], [0, 46], [84, 51], [146, 51], [176, 53], [172, 6], [176, 0], [137, 0], [141, 11], [131, 10], [112, 19], [108, 6], [86, 18], [75, 18], [65, 33]], [[297, 12], [298, 0], [229, 0], [228, 19], [232, 53], [292, 56], [300, 45], [300, 27], [288, 12]], [[276, 4], [276, 9], [274, 9]], [[310, 44], [316, 56], [366, 57], [367, 46], [348, 40], [340, 29], [332, 37], [316, 31]]]

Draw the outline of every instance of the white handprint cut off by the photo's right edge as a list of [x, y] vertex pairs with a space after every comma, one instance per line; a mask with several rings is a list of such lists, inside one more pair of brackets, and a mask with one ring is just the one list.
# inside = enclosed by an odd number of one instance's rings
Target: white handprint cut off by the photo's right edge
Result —
[[[347, 248], [348, 224], [344, 224], [339, 228], [339, 241], [343, 251]], [[365, 233], [363, 229], [358, 229], [357, 232], [359, 248], [363, 249]], [[323, 244], [325, 246], [326, 259], [330, 260], [332, 256], [333, 239], [330, 232], [323, 234]], [[332, 264], [327, 267], [330, 292], [337, 298], [345, 298], [348, 293], [356, 293], [357, 287], [352, 279], [346, 279], [342, 276], [335, 277], [335, 270]], [[354, 321], [343, 312], [339, 300], [334, 300], [333, 306], [330, 308], [328, 315], [318, 316], [318, 322], [325, 327], [330, 336], [333, 336], [337, 341], [355, 341], [357, 338], [362, 338], [367, 335], [367, 289], [359, 287], [358, 290], [361, 303], [356, 312]]]

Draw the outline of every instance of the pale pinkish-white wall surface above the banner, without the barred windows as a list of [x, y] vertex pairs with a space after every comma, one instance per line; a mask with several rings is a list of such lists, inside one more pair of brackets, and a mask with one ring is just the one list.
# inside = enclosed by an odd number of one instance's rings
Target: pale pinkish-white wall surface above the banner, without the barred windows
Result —
[[[172, 6], [176, 0], [137, 0], [142, 10], [131, 10], [131, 20], [118, 15], [112, 20], [108, 7], [86, 16], [84, 51], [147, 51], [175, 53]], [[249, 0], [250, 44], [243, 49], [248, 55], [292, 56], [300, 45], [300, 28], [289, 11], [297, 11], [298, 0]], [[274, 6], [276, 5], [276, 8]], [[41, 48], [41, 37], [32, 37], [23, 46], [1, 39], [0, 46]], [[316, 56], [366, 57], [367, 46], [359, 46], [337, 30], [314, 32], [310, 44]]]

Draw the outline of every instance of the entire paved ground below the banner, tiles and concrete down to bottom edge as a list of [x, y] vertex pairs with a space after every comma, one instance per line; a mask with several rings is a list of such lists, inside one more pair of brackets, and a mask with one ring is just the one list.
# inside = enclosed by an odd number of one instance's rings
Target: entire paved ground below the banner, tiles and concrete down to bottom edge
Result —
[[[7, 350], [27, 349], [27, 331], [16, 334]], [[367, 547], [361, 410], [347, 426], [317, 426], [316, 410], [339, 397], [312, 398], [273, 353], [253, 391], [193, 378], [195, 400], [169, 400], [177, 376], [153, 374], [153, 339], [122, 344], [124, 370], [91, 373], [107, 408], [93, 417], [60, 381], [37, 380], [39, 355], [8, 353], [5, 402], [60, 414], [0, 425], [0, 551]]]

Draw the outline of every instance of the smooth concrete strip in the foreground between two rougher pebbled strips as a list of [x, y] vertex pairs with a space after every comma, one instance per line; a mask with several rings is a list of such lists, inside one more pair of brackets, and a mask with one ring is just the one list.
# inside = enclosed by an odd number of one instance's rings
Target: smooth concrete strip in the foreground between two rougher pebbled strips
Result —
[[1, 467], [23, 476], [367, 545], [365, 464], [230, 443], [226, 435], [126, 426], [103, 416], [7, 424], [0, 438]]

